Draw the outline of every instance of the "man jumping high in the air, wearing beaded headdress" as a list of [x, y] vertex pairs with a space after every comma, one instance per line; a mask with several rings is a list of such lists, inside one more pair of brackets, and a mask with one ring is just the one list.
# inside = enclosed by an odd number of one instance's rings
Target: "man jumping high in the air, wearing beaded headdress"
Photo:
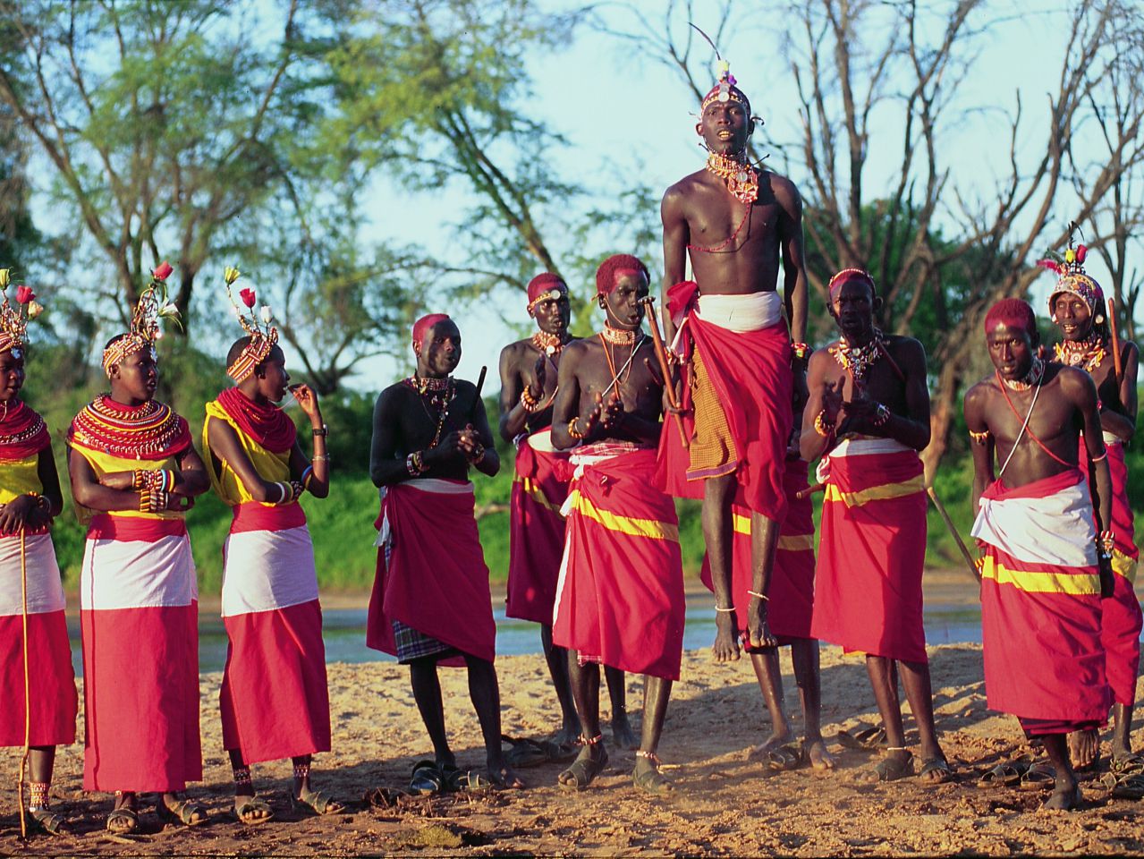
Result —
[[[770, 647], [766, 596], [786, 512], [792, 385], [801, 405], [809, 349], [802, 200], [789, 180], [748, 162], [754, 122], [724, 63], [696, 125], [707, 166], [664, 194], [665, 326], [685, 367], [683, 412], [666, 423], [682, 421], [688, 446], [677, 425], [665, 427], [657, 479], [672, 495], [702, 499], [721, 609], [732, 605], [732, 504], [750, 511], [746, 638], [749, 647]], [[684, 280], [689, 253], [694, 281]], [[780, 261], [785, 302], [777, 293]], [[716, 660], [738, 659], [734, 618], [717, 612], [715, 623]]]

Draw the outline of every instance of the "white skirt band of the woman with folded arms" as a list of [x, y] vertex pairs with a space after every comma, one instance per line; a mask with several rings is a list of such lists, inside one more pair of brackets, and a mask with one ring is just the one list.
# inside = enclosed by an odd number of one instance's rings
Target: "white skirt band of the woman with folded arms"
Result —
[[199, 598], [186, 534], [158, 540], [88, 538], [79, 578], [80, 609], [152, 609]]

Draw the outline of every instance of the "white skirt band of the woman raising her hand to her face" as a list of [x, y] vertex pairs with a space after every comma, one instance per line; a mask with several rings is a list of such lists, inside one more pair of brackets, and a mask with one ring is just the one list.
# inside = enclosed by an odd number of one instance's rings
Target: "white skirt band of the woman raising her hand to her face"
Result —
[[229, 534], [222, 558], [224, 618], [286, 609], [318, 598], [313, 543], [305, 525]]

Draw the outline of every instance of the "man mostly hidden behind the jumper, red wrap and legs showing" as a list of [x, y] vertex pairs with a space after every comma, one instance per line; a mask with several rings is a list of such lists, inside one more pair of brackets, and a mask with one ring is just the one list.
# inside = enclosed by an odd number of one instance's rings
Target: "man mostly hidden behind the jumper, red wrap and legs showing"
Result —
[[[773, 606], [771, 633], [779, 646], [791, 645], [795, 683], [802, 705], [803, 742], [794, 742], [791, 723], [782, 700], [782, 673], [779, 668], [778, 647], [756, 649], [750, 653], [752, 668], [771, 715], [771, 737], [752, 754], [764, 758], [773, 770], [793, 770], [810, 764], [816, 770], [834, 766], [834, 757], [826, 750], [821, 733], [821, 684], [818, 661], [818, 642], [810, 636], [810, 620], [815, 607], [815, 517], [810, 486], [807, 480], [808, 463], [799, 452], [799, 432], [792, 432], [787, 452], [784, 486], [787, 511], [779, 528], [774, 572], [768, 590]], [[801, 495], [801, 498], [800, 498]], [[710, 558], [704, 556], [700, 579], [714, 591]], [[750, 566], [750, 511], [734, 507], [734, 548], [732, 557], [731, 594], [734, 605], [747, 605], [754, 576]], [[736, 626], [745, 630], [745, 618], [736, 609]]]

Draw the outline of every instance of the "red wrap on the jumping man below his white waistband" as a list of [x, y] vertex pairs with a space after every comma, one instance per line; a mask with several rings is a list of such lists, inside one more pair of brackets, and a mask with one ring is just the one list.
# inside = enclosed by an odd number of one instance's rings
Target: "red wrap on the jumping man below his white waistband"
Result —
[[[793, 421], [791, 339], [786, 323], [740, 334], [705, 323], [692, 312], [685, 334], [702, 356], [734, 438], [738, 454], [733, 463], [738, 480], [734, 503], [782, 522], [787, 503], [782, 472]], [[690, 405], [689, 391], [690, 387], [684, 384], [684, 407]], [[670, 495], [702, 499], [704, 480], [686, 478], [691, 458], [680, 440], [675, 425], [678, 420], [676, 415], [665, 415], [656, 482]], [[683, 415], [682, 420], [684, 431], [691, 437], [693, 419]]]

